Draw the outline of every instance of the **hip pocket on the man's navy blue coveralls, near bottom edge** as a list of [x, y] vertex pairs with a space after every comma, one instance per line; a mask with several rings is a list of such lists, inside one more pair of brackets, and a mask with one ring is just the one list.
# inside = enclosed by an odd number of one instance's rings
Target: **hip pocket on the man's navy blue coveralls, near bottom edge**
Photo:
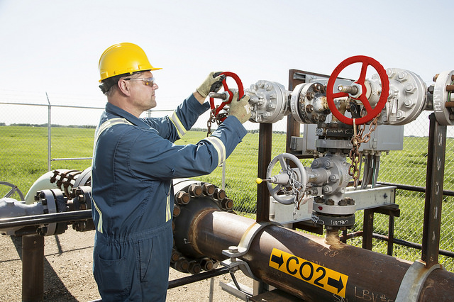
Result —
[[93, 275], [100, 286], [100, 291], [104, 293], [103, 296], [108, 295], [111, 298], [121, 298], [125, 294], [128, 296], [131, 280], [126, 257], [107, 260], [96, 255], [96, 262]]

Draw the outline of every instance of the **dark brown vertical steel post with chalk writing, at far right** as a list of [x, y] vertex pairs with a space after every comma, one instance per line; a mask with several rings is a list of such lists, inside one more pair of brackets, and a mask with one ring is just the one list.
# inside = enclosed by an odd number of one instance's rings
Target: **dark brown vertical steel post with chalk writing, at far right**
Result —
[[431, 113], [429, 121], [426, 202], [421, 252], [421, 260], [426, 262], [427, 268], [438, 264], [447, 130], [446, 125], [440, 125], [436, 121], [435, 113]]

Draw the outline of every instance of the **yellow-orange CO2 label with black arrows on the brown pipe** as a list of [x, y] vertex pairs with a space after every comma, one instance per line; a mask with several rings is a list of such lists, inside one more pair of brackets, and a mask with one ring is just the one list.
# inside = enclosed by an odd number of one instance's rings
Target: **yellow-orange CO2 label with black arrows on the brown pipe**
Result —
[[272, 249], [270, 267], [345, 298], [348, 276], [288, 252]]

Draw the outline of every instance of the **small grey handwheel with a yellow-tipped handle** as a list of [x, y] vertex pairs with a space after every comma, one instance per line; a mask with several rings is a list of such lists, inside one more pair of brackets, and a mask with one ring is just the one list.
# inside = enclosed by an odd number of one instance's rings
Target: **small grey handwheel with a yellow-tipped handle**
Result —
[[[297, 167], [291, 168], [286, 160], [293, 162]], [[277, 162], [279, 162], [282, 169], [279, 174], [271, 176], [272, 169]], [[282, 204], [295, 203], [297, 197], [301, 198], [306, 190], [306, 169], [304, 169], [303, 164], [296, 156], [289, 153], [282, 153], [272, 159], [268, 165], [266, 177], [267, 179], [264, 179], [264, 181], [267, 181], [271, 196]], [[259, 181], [257, 182], [259, 183]], [[273, 184], [276, 184], [276, 186], [273, 187]], [[283, 195], [278, 195], [279, 192], [282, 192]]]

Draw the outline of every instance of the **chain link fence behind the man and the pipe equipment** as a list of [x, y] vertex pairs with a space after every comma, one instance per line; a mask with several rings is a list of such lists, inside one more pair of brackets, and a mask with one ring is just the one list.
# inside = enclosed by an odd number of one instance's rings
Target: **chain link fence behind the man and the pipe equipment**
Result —
[[[26, 101], [24, 100], [26, 98]], [[65, 97], [67, 99], [67, 96]], [[0, 100], [0, 181], [16, 184], [24, 191], [33, 181], [51, 169], [79, 169], [90, 166], [92, 157], [94, 128], [104, 110], [104, 99], [90, 100], [89, 105], [81, 105], [77, 98], [67, 105], [61, 104], [57, 96], [30, 94], [15, 96], [4, 94]], [[74, 104], [77, 104], [74, 105]], [[96, 106], [93, 106], [96, 104]], [[99, 106], [97, 106], [99, 105]], [[165, 116], [171, 111], [151, 111], [148, 116]], [[206, 113], [199, 118], [194, 128], [206, 129]], [[285, 152], [286, 118], [273, 125], [272, 157]], [[49, 126], [50, 125], [50, 126]], [[236, 202], [236, 213], [255, 218], [258, 167], [258, 125], [245, 123], [249, 133], [238, 145], [233, 155], [223, 167], [214, 173], [197, 177], [216, 186], [224, 187], [229, 198]], [[411, 186], [426, 186], [426, 160], [428, 144], [428, 113], [405, 125], [404, 150], [383, 153], [380, 160], [378, 181]], [[187, 138], [178, 144], [195, 143], [206, 136], [204, 131], [190, 131]], [[453, 155], [449, 150], [454, 147], [454, 129], [448, 127], [448, 141], [445, 155], [444, 189], [454, 190], [454, 170], [450, 169]], [[50, 139], [48, 139], [50, 138]], [[78, 160], [74, 160], [78, 159]], [[303, 160], [309, 166], [311, 160]], [[225, 170], [225, 177], [223, 173]], [[0, 186], [0, 196], [10, 187]], [[23, 192], [24, 194], [26, 192]], [[400, 240], [421, 244], [423, 229], [424, 194], [397, 189], [396, 203], [401, 215], [395, 220], [394, 237]], [[440, 248], [453, 251], [454, 224], [453, 197], [443, 198]], [[351, 232], [362, 230], [362, 211], [356, 213], [356, 223]], [[374, 233], [387, 235], [388, 216], [375, 214]], [[349, 240], [350, 244], [361, 245], [360, 237]], [[387, 243], [374, 240], [373, 250], [386, 253]], [[421, 251], [401, 245], [394, 245], [395, 257], [414, 261], [420, 259]], [[454, 261], [441, 256], [440, 263], [446, 269], [454, 270]]]

